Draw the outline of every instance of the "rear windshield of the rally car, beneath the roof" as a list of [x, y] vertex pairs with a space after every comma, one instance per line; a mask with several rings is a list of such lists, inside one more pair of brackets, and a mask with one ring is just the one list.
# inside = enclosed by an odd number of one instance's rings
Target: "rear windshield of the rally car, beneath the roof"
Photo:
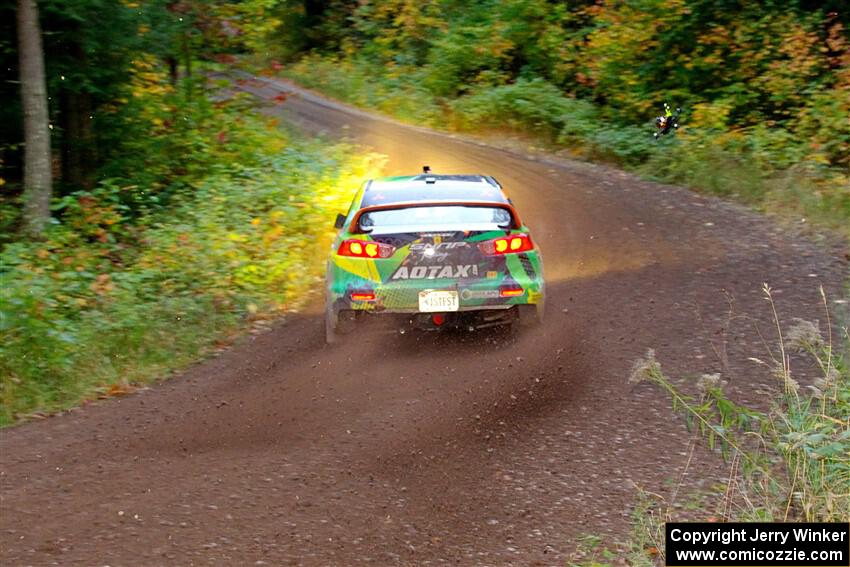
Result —
[[383, 209], [360, 215], [359, 229], [371, 233], [427, 230], [499, 230], [514, 224], [511, 212], [501, 207], [435, 205]]

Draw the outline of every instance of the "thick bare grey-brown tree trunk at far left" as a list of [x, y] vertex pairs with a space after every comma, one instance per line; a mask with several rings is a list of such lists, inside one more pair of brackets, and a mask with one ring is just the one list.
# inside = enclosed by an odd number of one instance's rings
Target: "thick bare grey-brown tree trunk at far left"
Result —
[[50, 218], [53, 180], [44, 50], [35, 0], [18, 0], [18, 54], [24, 111], [24, 231], [37, 237]]

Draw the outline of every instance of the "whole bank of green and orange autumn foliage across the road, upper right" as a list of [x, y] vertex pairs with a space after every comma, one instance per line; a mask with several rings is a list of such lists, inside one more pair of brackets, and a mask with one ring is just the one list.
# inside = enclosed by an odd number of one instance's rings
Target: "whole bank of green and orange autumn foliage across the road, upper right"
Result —
[[[828, 3], [411, 5], [329, 3], [317, 25], [343, 39], [286, 73], [404, 120], [530, 133], [655, 179], [850, 226], [848, 21]], [[684, 107], [683, 128], [656, 144], [664, 101]]]

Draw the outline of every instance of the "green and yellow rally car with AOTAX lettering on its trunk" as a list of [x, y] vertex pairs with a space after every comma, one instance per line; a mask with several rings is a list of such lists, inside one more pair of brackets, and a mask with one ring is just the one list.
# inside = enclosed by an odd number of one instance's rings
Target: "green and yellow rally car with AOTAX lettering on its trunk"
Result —
[[360, 322], [478, 329], [543, 315], [540, 251], [485, 175], [385, 177], [338, 215], [326, 278], [328, 343]]

